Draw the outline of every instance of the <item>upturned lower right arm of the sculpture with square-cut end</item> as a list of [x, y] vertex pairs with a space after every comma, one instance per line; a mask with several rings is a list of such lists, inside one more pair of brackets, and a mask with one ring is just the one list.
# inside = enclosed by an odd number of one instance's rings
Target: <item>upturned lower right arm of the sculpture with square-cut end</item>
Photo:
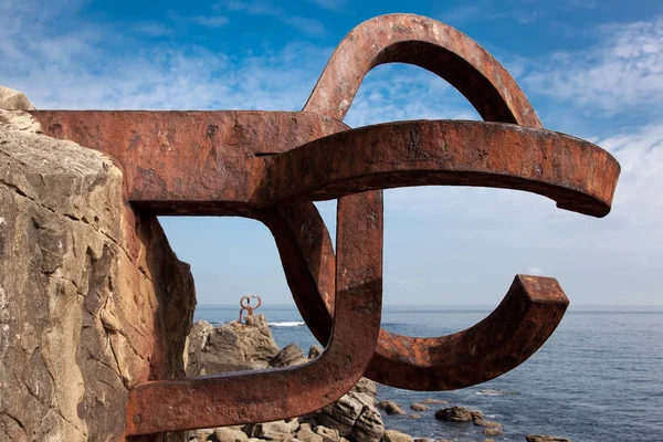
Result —
[[534, 355], [568, 305], [556, 280], [517, 275], [497, 308], [466, 330], [433, 338], [380, 330], [366, 376], [392, 387], [428, 391], [485, 382]]

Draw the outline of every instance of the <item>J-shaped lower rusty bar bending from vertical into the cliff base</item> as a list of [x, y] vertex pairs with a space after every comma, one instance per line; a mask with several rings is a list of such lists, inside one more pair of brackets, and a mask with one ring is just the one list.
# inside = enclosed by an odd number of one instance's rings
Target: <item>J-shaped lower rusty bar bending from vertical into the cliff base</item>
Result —
[[294, 368], [140, 385], [129, 393], [127, 435], [292, 418], [352, 388], [370, 362], [380, 329], [381, 192], [339, 199], [336, 241], [335, 317], [320, 357]]

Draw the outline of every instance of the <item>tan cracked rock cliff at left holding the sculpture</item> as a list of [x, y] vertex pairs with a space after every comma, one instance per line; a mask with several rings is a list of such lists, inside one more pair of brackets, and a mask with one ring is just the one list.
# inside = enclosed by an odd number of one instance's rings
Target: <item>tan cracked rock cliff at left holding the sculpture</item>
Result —
[[0, 112], [0, 440], [124, 441], [128, 389], [185, 375], [193, 281], [109, 158], [39, 133]]

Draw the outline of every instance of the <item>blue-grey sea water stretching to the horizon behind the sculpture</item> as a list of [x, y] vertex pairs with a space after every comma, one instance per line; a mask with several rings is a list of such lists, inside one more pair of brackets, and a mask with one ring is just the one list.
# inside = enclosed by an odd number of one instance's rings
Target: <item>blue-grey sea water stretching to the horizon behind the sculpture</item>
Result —
[[[294, 306], [263, 306], [276, 343], [298, 344], [306, 354], [318, 344]], [[467, 328], [490, 311], [439, 306], [386, 306], [382, 327], [410, 336], [440, 336]], [[236, 320], [239, 306], [198, 306], [196, 320]], [[482, 392], [488, 391], [486, 394]], [[663, 311], [576, 309], [567, 312], [550, 339], [516, 369], [488, 382], [455, 391], [422, 392], [378, 386], [380, 399], [410, 403], [427, 398], [481, 410], [504, 424], [495, 441], [551, 434], [575, 442], [663, 442]], [[388, 429], [415, 438], [484, 441], [482, 428], [421, 419], [383, 417]], [[413, 412], [414, 413], [414, 412]]]

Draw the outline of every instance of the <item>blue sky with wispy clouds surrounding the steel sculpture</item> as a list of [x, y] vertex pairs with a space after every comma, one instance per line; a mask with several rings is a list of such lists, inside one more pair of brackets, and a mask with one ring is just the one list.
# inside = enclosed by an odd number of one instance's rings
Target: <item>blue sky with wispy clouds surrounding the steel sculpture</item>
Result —
[[[514, 275], [556, 277], [572, 305], [663, 305], [663, 2], [0, 0], [0, 85], [42, 109], [298, 110], [334, 48], [383, 13], [445, 22], [488, 50], [548, 129], [621, 164], [604, 219], [525, 192], [385, 193], [385, 304], [496, 305]], [[345, 122], [480, 119], [409, 65], [365, 78]], [[334, 238], [335, 201], [316, 203]], [[273, 238], [240, 218], [161, 218], [199, 304], [292, 304]]]

